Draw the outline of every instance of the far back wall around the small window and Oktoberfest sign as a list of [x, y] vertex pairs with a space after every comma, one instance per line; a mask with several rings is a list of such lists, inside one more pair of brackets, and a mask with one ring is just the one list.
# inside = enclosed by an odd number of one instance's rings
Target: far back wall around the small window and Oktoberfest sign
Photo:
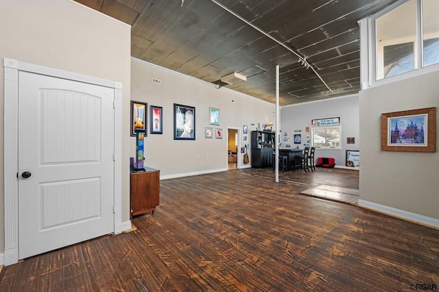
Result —
[[[311, 120], [340, 117], [342, 129], [341, 142], [342, 149], [316, 149], [317, 157], [333, 157], [335, 158], [335, 167], [345, 167], [346, 150], [359, 149], [359, 100], [358, 95], [349, 95], [347, 97], [338, 97], [332, 99], [324, 99], [322, 101], [313, 101], [306, 104], [297, 104], [292, 106], [283, 106], [281, 110], [281, 148], [287, 149], [286, 145], [291, 147], [299, 146], [302, 149], [306, 143], [307, 134], [305, 127], [311, 128]], [[300, 130], [301, 132], [294, 132]], [[284, 132], [289, 137], [288, 142], [283, 141]], [[294, 134], [302, 135], [302, 143], [294, 144]], [[354, 137], [355, 144], [347, 144], [346, 138]], [[362, 161], [360, 152], [360, 165]], [[349, 167], [353, 169], [353, 167]]]

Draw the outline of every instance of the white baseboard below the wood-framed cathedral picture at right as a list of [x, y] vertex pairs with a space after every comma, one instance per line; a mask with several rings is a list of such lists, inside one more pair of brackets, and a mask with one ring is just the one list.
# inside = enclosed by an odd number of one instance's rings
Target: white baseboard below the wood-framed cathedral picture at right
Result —
[[385, 215], [390, 215], [392, 217], [403, 219], [405, 221], [410, 221], [412, 223], [416, 223], [422, 226], [439, 229], [439, 219], [436, 218], [427, 217], [424, 215], [392, 208], [389, 206], [384, 206], [374, 202], [364, 201], [363, 199], [358, 200], [358, 206], [368, 208], [370, 210], [375, 210]]

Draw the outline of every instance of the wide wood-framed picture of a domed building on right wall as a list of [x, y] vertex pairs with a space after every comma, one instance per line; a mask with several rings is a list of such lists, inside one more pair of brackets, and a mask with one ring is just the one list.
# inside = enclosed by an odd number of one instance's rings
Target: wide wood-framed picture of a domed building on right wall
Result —
[[436, 152], [436, 107], [381, 114], [381, 150]]

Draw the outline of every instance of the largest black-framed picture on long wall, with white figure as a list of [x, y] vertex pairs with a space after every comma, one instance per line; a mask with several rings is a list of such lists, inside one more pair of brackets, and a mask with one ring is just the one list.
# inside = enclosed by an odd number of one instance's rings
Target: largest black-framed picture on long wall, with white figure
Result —
[[195, 140], [195, 107], [174, 104], [174, 140]]

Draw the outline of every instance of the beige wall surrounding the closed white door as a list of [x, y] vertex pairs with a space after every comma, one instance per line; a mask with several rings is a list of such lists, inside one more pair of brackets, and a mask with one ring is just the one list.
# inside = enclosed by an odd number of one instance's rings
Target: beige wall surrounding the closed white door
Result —
[[[130, 26], [69, 0], [0, 0], [0, 60], [10, 58], [122, 83], [129, 136]], [[0, 250], [4, 250], [3, 66], [0, 70]], [[128, 143], [122, 145], [128, 161]], [[130, 218], [129, 167], [122, 169], [122, 220]]]

